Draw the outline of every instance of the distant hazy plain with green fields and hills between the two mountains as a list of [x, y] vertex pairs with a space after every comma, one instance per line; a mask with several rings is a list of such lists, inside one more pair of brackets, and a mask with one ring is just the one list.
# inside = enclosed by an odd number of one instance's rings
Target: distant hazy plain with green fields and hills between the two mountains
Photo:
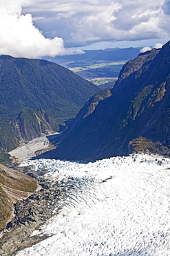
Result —
[[57, 56], [47, 60], [65, 66], [97, 86], [102, 84], [100, 89], [105, 89], [114, 86], [123, 65], [139, 53], [139, 48], [107, 48], [83, 51], [78, 55]]

